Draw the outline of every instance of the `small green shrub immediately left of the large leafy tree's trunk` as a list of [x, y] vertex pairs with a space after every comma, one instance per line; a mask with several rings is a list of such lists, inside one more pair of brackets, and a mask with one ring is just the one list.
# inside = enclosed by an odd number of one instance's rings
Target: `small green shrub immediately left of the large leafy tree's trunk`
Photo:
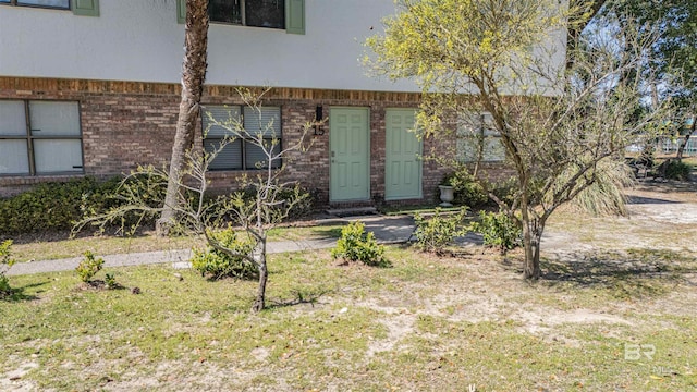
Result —
[[479, 212], [479, 221], [472, 230], [481, 233], [486, 246], [498, 247], [501, 253], [521, 246], [523, 231], [503, 212]]

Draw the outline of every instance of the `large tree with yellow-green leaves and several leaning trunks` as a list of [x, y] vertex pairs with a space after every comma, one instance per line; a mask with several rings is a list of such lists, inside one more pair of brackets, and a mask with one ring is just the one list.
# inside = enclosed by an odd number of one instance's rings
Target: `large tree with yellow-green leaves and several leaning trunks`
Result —
[[[617, 51], [612, 39], [579, 37], [566, 66], [565, 32], [585, 10], [557, 0], [399, 0], [384, 20], [384, 35], [367, 45], [375, 69], [390, 78], [412, 78], [423, 89], [420, 125], [452, 133], [490, 113], [491, 126], [515, 173], [510, 200], [490, 197], [523, 230], [524, 277], [540, 277], [540, 240], [557, 208], [591, 192], [602, 172], [621, 161], [624, 148], [655, 137], [663, 106], [639, 110], [641, 69], [653, 37], [629, 26]], [[594, 37], [591, 37], [594, 38]], [[631, 75], [631, 74], [629, 74]], [[669, 102], [663, 102], [668, 105]]]

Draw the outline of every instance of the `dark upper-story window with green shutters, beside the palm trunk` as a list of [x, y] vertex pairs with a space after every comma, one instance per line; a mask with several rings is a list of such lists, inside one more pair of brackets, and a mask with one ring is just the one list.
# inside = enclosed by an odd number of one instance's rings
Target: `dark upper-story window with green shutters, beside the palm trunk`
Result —
[[209, 0], [211, 22], [285, 28], [285, 0]]

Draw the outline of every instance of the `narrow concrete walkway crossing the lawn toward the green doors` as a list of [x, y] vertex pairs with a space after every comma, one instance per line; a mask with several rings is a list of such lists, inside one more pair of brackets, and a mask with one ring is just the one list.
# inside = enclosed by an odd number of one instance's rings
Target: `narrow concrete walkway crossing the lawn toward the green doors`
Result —
[[[411, 217], [357, 217], [348, 219], [323, 220], [318, 223], [340, 224], [360, 220], [366, 225], [366, 231], [375, 233], [378, 242], [383, 244], [405, 243], [414, 232], [414, 220]], [[286, 252], [303, 252], [311, 249], [327, 249], [337, 244], [337, 238], [320, 238], [306, 241], [269, 242], [267, 252], [279, 254]], [[105, 259], [105, 267], [125, 267], [149, 264], [172, 262], [174, 268], [188, 268], [192, 257], [191, 249], [159, 250], [132, 253], [122, 255], [98, 255]], [[74, 270], [83, 257], [68, 259], [42, 260], [32, 262], [17, 262], [10, 268], [8, 275], [20, 275], [41, 272], [58, 272]]]

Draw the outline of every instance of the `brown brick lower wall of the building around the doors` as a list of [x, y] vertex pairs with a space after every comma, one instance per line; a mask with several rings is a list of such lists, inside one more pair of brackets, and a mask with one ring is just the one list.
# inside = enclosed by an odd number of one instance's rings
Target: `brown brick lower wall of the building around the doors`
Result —
[[[265, 105], [281, 106], [282, 143], [294, 144], [301, 128], [315, 119], [318, 105], [328, 115], [332, 106], [368, 107], [370, 109], [370, 194], [374, 201], [384, 195], [384, 111], [387, 108], [417, 108], [420, 96], [407, 93], [345, 91], [278, 88], [266, 96]], [[65, 81], [0, 77], [0, 99], [77, 100], [81, 105], [85, 174], [111, 176], [135, 169], [138, 164], [163, 167], [169, 162], [176, 127], [180, 87], [175, 84]], [[240, 105], [237, 94], [229, 86], [207, 86], [204, 105]], [[329, 200], [329, 124], [321, 136], [308, 135], [307, 151], [289, 157], [285, 177], [298, 181], [314, 191], [320, 204]], [[200, 130], [199, 130], [200, 132]], [[198, 146], [201, 138], [197, 139]], [[426, 139], [424, 151], [444, 150], [447, 142]], [[236, 188], [243, 171], [210, 173], [219, 191]], [[254, 174], [254, 171], [247, 171]], [[424, 162], [424, 199], [431, 200], [443, 170], [435, 162]], [[80, 176], [80, 175], [77, 175]], [[47, 181], [65, 181], [75, 176], [0, 176], [0, 197], [17, 193]], [[423, 203], [401, 200], [400, 204]]]

